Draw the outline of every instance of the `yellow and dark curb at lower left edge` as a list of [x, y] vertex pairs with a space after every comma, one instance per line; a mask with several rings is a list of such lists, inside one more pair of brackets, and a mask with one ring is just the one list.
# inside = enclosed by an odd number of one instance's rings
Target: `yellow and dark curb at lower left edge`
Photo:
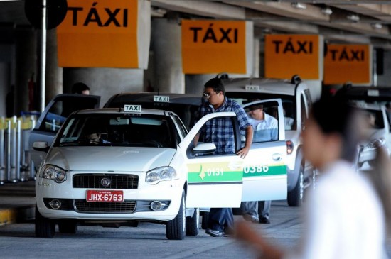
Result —
[[0, 226], [21, 223], [35, 219], [35, 206], [21, 206], [13, 209], [0, 209]]

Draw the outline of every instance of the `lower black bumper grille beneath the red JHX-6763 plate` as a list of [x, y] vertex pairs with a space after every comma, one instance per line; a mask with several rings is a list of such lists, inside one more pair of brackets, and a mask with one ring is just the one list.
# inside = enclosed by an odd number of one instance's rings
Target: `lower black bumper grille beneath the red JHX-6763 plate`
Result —
[[85, 199], [75, 199], [77, 212], [90, 213], [132, 213], [136, 208], [136, 201], [124, 202], [86, 202]]

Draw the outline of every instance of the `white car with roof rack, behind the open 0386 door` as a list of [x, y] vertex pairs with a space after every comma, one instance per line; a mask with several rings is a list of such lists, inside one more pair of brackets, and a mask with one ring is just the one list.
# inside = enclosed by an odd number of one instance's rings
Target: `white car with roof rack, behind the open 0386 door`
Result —
[[219, 74], [225, 84], [226, 96], [239, 104], [260, 99], [282, 99], [286, 135], [286, 165], [288, 171], [289, 206], [300, 206], [304, 190], [314, 182], [315, 168], [306, 162], [301, 152], [301, 131], [309, 116], [312, 101], [310, 89], [300, 77], [292, 79], [229, 78]]

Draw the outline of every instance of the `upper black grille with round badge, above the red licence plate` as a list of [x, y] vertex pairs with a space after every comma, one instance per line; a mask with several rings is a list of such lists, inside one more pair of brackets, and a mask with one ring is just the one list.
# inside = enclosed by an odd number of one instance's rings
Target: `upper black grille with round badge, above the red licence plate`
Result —
[[[109, 186], [102, 186], [102, 178], [111, 181]], [[82, 174], [73, 175], [73, 188], [90, 189], [137, 189], [139, 185], [138, 175], [111, 175], [111, 174]]]

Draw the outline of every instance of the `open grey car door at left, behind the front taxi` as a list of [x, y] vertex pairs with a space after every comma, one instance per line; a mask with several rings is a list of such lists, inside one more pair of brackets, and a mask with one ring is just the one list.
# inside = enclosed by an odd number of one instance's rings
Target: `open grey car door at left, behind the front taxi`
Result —
[[51, 145], [55, 134], [73, 111], [98, 108], [99, 105], [99, 96], [86, 94], [58, 94], [49, 102], [28, 139], [31, 160], [36, 170], [46, 153], [34, 150], [33, 143], [43, 141]]

